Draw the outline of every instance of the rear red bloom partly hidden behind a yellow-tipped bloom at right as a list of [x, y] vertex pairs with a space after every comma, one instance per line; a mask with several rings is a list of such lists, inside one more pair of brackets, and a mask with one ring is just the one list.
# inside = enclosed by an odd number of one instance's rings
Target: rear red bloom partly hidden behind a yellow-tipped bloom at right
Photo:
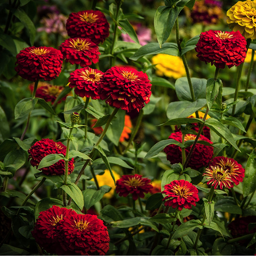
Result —
[[235, 185], [242, 182], [245, 177], [245, 170], [232, 158], [216, 157], [210, 162], [209, 168], [211, 166], [219, 166], [222, 170], [226, 170]]

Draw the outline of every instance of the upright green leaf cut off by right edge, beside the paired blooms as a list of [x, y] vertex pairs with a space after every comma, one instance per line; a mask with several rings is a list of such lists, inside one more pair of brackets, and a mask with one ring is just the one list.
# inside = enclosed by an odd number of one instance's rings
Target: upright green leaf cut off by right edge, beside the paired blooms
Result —
[[242, 182], [243, 196], [246, 197], [256, 190], [256, 149], [252, 150], [246, 163], [245, 178]]

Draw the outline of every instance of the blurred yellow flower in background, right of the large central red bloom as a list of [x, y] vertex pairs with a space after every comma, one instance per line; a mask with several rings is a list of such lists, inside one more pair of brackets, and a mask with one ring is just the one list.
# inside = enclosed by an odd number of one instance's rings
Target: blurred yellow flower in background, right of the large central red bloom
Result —
[[165, 75], [168, 78], [178, 79], [186, 75], [182, 59], [178, 56], [157, 54], [152, 58], [152, 63], [158, 64], [155, 66], [155, 73], [159, 76]]

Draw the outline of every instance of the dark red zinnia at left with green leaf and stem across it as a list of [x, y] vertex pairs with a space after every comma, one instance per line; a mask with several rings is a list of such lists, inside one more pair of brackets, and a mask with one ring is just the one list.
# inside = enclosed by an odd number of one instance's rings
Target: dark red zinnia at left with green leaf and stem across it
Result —
[[[66, 146], [62, 142], [54, 142], [49, 138], [42, 138], [41, 141], [35, 142], [28, 150], [30, 164], [38, 168], [42, 158], [48, 154], [63, 154], [66, 156]], [[52, 166], [44, 167], [42, 173], [46, 175], [63, 175], [65, 174], [65, 161], [59, 160]], [[74, 170], [74, 158], [69, 162], [69, 172], [71, 174]]]

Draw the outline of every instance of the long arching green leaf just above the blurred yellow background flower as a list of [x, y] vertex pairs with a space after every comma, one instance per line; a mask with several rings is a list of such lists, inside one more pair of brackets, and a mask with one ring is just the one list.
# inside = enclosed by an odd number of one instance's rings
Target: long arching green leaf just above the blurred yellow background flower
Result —
[[166, 42], [164, 45], [162, 45], [162, 48], [160, 48], [157, 42], [150, 42], [139, 48], [135, 54], [130, 57], [130, 59], [132, 61], [138, 61], [139, 58], [154, 54], [169, 54], [172, 56], [178, 56], [178, 46], [176, 43]]

